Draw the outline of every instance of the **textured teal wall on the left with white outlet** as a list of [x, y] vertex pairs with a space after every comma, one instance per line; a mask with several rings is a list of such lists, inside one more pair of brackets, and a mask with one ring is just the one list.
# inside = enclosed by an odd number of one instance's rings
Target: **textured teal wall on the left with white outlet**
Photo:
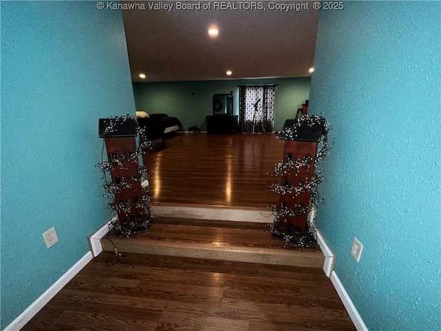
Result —
[[[1, 1], [1, 329], [88, 251], [110, 217], [98, 119], [134, 114], [121, 11]], [[42, 233], [54, 226], [59, 243]]]

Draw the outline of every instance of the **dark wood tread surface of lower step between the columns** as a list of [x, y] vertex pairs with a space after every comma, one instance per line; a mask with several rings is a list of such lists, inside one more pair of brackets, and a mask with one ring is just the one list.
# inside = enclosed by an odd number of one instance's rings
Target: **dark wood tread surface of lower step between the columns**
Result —
[[285, 241], [271, 235], [269, 224], [254, 222], [157, 217], [153, 219], [148, 231], [139, 232], [130, 238], [119, 238], [112, 232], [109, 238], [132, 246], [163, 245], [201, 250], [322, 256], [317, 245], [309, 248], [298, 248], [293, 243], [285, 245]]

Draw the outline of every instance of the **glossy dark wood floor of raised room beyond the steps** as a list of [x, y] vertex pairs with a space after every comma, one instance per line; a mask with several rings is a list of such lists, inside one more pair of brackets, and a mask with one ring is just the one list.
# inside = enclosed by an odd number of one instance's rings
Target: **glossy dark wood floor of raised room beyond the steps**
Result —
[[143, 158], [154, 202], [255, 208], [278, 202], [270, 186], [283, 141], [275, 134], [176, 134], [165, 146]]

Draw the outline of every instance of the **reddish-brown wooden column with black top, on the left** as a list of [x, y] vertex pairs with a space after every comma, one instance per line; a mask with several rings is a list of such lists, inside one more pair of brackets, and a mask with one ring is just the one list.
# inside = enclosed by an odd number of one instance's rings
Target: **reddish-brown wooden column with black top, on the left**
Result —
[[122, 234], [132, 234], [145, 229], [150, 222], [150, 212], [145, 209], [145, 193], [136, 153], [136, 121], [125, 119], [99, 120], [99, 137], [104, 138], [107, 160], [110, 164], [111, 183], [105, 183], [114, 194], [110, 208], [118, 213]]

